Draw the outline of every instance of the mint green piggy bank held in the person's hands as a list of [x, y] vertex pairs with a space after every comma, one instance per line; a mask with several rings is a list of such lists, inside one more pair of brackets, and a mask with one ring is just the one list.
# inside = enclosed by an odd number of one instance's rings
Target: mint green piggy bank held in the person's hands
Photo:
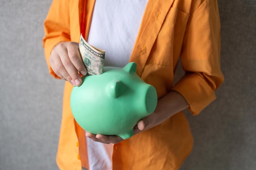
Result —
[[70, 104], [76, 122], [92, 134], [133, 135], [137, 122], [153, 113], [157, 92], [137, 74], [135, 62], [124, 68], [104, 67], [103, 74], [82, 77], [72, 89]]

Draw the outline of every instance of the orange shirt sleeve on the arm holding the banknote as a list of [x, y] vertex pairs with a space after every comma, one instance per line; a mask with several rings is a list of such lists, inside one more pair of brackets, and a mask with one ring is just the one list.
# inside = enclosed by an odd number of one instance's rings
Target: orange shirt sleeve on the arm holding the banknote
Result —
[[53, 0], [44, 22], [45, 36], [43, 38], [43, 47], [45, 59], [49, 73], [55, 78], [59, 77], [52, 70], [49, 64], [49, 57], [56, 44], [70, 41], [69, 3], [69, 0]]

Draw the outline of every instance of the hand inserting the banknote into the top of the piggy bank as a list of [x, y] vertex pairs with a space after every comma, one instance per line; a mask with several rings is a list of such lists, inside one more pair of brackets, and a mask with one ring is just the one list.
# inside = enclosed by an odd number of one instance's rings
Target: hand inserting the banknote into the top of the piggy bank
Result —
[[79, 44], [76, 42], [60, 42], [54, 47], [49, 57], [49, 63], [54, 73], [70, 82], [72, 86], [80, 86], [82, 79], [79, 73], [81, 75], [87, 73], [78, 46]]

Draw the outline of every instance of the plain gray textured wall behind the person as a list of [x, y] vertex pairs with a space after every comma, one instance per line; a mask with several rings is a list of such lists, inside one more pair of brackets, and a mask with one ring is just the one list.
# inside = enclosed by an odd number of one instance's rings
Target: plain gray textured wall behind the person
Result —
[[[41, 41], [51, 0], [0, 1], [0, 170], [57, 170], [64, 82]], [[219, 7], [225, 82], [200, 115], [186, 111], [195, 146], [181, 170], [256, 169], [256, 0]]]

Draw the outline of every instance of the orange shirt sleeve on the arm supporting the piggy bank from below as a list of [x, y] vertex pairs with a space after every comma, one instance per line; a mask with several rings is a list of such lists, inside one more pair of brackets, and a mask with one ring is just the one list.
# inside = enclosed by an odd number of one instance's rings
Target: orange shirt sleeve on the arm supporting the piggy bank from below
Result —
[[191, 13], [181, 53], [185, 76], [173, 86], [193, 115], [216, 97], [224, 78], [220, 71], [220, 18], [217, 0], [205, 0]]

